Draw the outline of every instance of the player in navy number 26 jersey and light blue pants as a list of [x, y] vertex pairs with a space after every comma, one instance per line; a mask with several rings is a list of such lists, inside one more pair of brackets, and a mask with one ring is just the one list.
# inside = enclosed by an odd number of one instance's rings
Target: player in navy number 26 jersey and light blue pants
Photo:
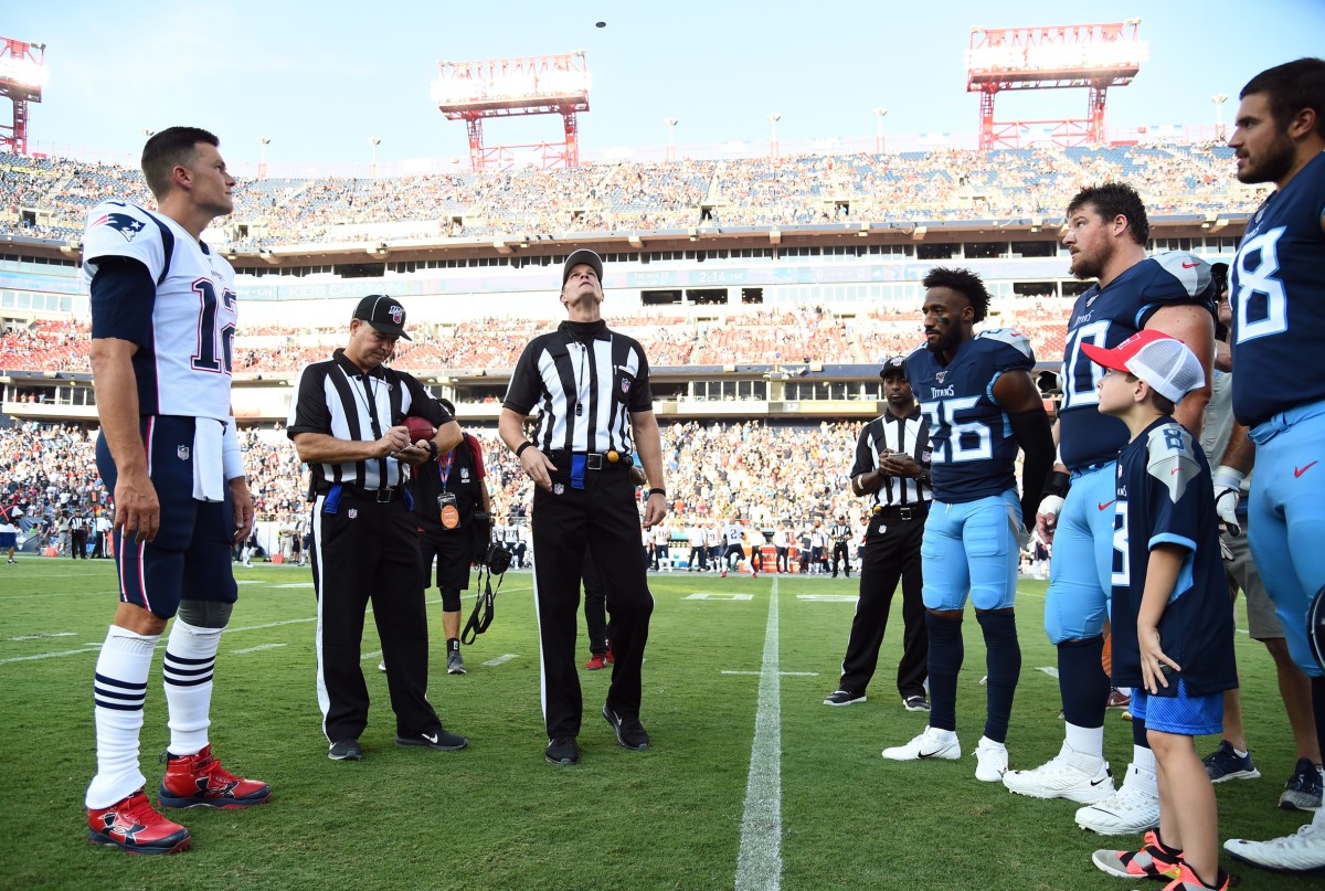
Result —
[[[925, 285], [926, 346], [906, 357], [920, 408], [929, 419], [934, 501], [921, 542], [925, 623], [929, 628], [929, 727], [892, 761], [957, 760], [957, 676], [962, 614], [970, 597], [984, 635], [987, 717], [975, 746], [975, 778], [998, 782], [1007, 770], [1007, 724], [1022, 671], [1012, 605], [1020, 541], [1035, 521], [1053, 440], [1031, 379], [1035, 355], [1019, 331], [975, 335], [990, 294], [966, 269], [930, 269]], [[1022, 499], [1014, 461], [1026, 449]]]

